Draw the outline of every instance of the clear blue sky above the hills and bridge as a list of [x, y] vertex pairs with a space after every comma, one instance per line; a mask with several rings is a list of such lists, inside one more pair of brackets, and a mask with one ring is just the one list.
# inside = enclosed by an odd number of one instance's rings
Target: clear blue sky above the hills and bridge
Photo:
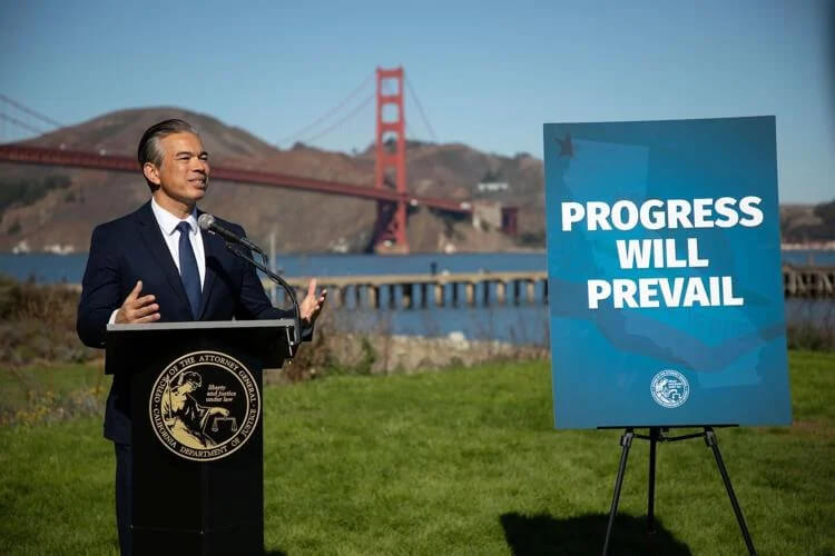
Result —
[[[835, 198], [833, 12], [832, 0], [3, 2], [0, 93], [62, 123], [178, 106], [277, 142], [375, 67], [402, 64], [439, 141], [502, 155], [541, 158], [543, 122], [776, 115], [780, 200], [819, 202]], [[406, 120], [431, 139], [411, 98]], [[364, 149], [373, 135], [370, 103], [314, 145]], [[0, 139], [24, 136], [0, 121]]]

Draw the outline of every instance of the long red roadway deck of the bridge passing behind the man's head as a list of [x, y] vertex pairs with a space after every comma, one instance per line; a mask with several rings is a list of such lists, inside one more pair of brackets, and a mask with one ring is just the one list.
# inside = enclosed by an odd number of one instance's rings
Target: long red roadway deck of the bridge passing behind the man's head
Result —
[[[42, 147], [28, 147], [13, 143], [0, 145], [0, 162], [17, 162], [36, 166], [63, 166], [69, 168], [87, 168], [92, 170], [112, 170], [136, 173], [139, 172], [139, 162], [130, 157], [99, 155], [96, 152], [61, 149], [47, 149]], [[316, 191], [320, 193], [342, 195], [379, 201], [402, 201], [407, 202], [411, 206], [425, 206], [446, 212], [458, 212], [461, 215], [472, 214], [472, 205], [466, 201], [438, 199], [433, 197], [418, 197], [409, 193], [399, 193], [394, 189], [377, 189], [374, 187], [356, 186], [353, 183], [340, 183], [336, 181], [324, 181], [318, 179], [304, 178], [301, 176], [262, 172], [247, 170], [245, 168], [230, 168], [212, 165], [212, 177], [214, 179], [234, 181], [237, 183], [282, 187], [287, 189], [302, 189], [306, 191]]]

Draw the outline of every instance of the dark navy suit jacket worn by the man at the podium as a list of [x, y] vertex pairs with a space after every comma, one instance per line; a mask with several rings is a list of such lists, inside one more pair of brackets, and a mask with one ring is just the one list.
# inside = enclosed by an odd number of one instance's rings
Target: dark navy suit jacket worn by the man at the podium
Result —
[[[218, 222], [245, 236], [240, 226], [220, 219]], [[223, 239], [203, 230], [200, 234], [206, 254], [206, 275], [197, 320], [292, 316], [289, 310], [273, 307], [252, 265], [232, 255]], [[195, 320], [150, 201], [136, 212], [92, 230], [76, 324], [78, 336], [85, 345], [105, 347], [110, 315], [121, 307], [137, 280], [143, 280], [140, 296], [156, 296], [159, 322]], [[130, 444], [130, 383], [127, 376], [114, 376], [105, 410], [105, 436], [119, 444]]]

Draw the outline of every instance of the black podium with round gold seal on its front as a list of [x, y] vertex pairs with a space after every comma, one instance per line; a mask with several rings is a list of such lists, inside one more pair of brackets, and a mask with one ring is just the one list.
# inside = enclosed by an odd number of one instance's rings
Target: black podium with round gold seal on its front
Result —
[[130, 383], [134, 554], [264, 553], [262, 370], [292, 319], [108, 325], [106, 373]]

